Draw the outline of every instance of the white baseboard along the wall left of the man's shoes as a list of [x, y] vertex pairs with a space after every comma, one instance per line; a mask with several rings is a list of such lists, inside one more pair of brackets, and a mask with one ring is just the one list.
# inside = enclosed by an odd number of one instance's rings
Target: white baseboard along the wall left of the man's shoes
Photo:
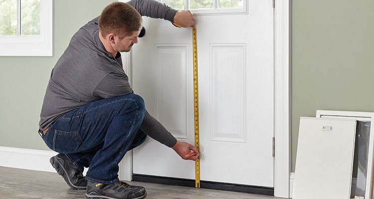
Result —
[[55, 155], [54, 151], [0, 146], [0, 167], [56, 172], [49, 163], [49, 158]]

